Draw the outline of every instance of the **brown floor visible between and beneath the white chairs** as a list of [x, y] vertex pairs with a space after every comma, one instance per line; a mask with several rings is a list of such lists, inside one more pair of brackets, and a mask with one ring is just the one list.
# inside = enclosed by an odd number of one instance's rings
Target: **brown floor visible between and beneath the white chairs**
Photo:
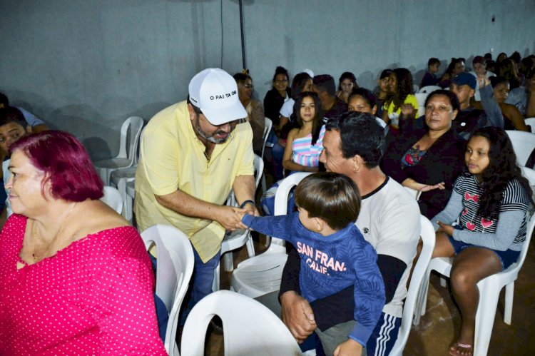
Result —
[[[258, 243], [260, 241], [260, 244]], [[264, 238], [255, 238], [255, 249], [263, 252]], [[233, 253], [234, 263], [247, 258], [245, 246]], [[228, 289], [232, 273], [221, 273], [221, 286]], [[530, 247], [526, 262], [515, 283], [511, 325], [503, 321], [503, 290], [496, 311], [489, 356], [535, 355], [535, 250]], [[427, 312], [417, 327], [412, 327], [404, 355], [448, 355], [448, 347], [459, 331], [460, 316], [449, 288], [442, 288], [438, 275], [431, 275]], [[224, 355], [223, 335], [209, 332], [206, 355]], [[282, 356], [282, 355], [281, 355]]]

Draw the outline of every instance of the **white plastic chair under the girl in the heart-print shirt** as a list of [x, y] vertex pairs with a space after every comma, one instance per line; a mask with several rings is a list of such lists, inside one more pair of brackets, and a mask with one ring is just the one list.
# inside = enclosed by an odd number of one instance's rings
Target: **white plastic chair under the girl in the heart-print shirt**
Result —
[[[518, 131], [516, 131], [518, 132]], [[531, 168], [521, 167], [524, 177], [529, 180], [529, 185], [535, 185], [535, 171]], [[479, 305], [477, 305], [476, 314], [476, 335], [474, 337], [474, 356], [484, 356], [489, 350], [489, 342], [492, 334], [492, 327], [494, 326], [494, 317], [496, 316], [496, 307], [500, 291], [505, 287], [505, 301], [504, 301], [504, 322], [511, 325], [511, 315], [513, 312], [513, 298], [514, 298], [514, 281], [518, 278], [520, 268], [526, 260], [528, 253], [529, 242], [531, 235], [535, 228], [535, 215], [532, 215], [527, 222], [526, 240], [516, 263], [513, 263], [506, 270], [490, 275], [477, 283], [479, 289]], [[422, 307], [420, 315], [425, 314], [427, 306], [427, 290], [429, 289], [429, 274], [432, 270], [437, 271], [441, 275], [449, 277], [452, 270], [453, 258], [433, 258], [427, 268], [427, 276], [424, 285], [422, 286]], [[442, 283], [441, 283], [442, 284]], [[419, 320], [416, 318], [415, 323]]]

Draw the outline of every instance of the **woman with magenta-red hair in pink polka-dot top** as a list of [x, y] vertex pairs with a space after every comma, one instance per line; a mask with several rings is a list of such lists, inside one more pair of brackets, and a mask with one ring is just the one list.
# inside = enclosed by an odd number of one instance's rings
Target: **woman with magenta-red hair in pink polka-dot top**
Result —
[[0, 235], [1, 355], [165, 355], [154, 278], [136, 229], [69, 133], [11, 147], [14, 215]]

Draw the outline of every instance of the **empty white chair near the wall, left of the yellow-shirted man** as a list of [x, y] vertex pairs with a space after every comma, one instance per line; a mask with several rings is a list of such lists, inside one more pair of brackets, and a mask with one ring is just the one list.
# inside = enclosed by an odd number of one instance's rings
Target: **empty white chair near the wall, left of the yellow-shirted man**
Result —
[[[95, 168], [101, 176], [104, 185], [110, 185], [110, 174], [117, 168], [127, 168], [133, 166], [136, 160], [136, 149], [138, 147], [141, 128], [143, 128], [143, 118], [131, 116], [123, 122], [121, 126], [121, 140], [119, 141], [119, 153], [115, 158], [95, 162]], [[130, 134], [128, 134], [130, 131]], [[128, 145], [128, 146], [127, 146]]]

